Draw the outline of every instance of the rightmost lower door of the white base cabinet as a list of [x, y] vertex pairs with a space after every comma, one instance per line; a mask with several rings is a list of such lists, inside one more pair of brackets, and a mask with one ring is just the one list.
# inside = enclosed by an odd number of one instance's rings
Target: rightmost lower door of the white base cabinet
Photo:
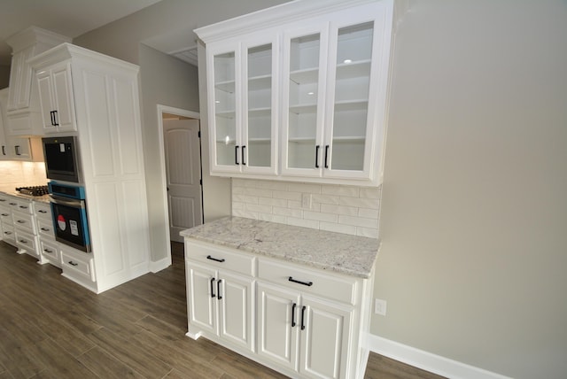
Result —
[[306, 329], [301, 332], [299, 371], [317, 378], [345, 377], [353, 311], [307, 297], [302, 306]]

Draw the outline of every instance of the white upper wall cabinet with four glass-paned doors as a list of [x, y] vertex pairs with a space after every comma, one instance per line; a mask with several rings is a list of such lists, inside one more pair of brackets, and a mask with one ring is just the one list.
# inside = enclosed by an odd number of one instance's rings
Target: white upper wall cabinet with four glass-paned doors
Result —
[[392, 0], [298, 0], [197, 29], [211, 174], [379, 185], [392, 19]]

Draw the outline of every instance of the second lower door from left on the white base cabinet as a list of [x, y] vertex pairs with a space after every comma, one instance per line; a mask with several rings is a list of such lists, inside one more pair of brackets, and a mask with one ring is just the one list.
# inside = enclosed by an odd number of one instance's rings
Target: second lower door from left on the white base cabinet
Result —
[[219, 276], [220, 336], [252, 351], [252, 280], [225, 272]]

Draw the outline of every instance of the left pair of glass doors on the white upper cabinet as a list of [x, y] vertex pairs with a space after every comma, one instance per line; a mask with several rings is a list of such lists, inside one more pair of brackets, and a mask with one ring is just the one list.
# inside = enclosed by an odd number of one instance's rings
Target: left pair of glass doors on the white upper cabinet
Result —
[[211, 170], [276, 174], [276, 39], [207, 46]]

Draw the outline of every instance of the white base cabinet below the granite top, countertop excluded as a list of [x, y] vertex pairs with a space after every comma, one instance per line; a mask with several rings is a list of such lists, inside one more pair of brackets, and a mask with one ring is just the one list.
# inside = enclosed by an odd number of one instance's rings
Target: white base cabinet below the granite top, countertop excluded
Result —
[[284, 375], [359, 378], [371, 279], [185, 238], [188, 333]]

